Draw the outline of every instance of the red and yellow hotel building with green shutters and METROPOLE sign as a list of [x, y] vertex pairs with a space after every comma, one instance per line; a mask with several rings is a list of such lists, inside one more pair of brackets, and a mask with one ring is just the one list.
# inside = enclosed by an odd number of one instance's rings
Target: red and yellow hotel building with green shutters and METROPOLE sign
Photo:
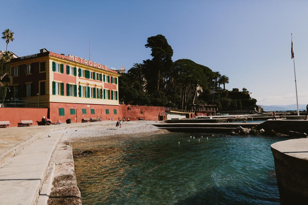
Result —
[[10, 97], [39, 101], [56, 122], [81, 122], [85, 117], [117, 120], [119, 116], [117, 71], [77, 56], [40, 53], [11, 59]]

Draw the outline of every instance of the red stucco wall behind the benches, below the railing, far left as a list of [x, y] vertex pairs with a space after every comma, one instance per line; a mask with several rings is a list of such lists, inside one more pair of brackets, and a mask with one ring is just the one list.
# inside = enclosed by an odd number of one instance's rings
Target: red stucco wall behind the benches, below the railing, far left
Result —
[[48, 108], [0, 108], [0, 121], [10, 121], [10, 127], [17, 127], [20, 120], [32, 120], [34, 126], [47, 112]]

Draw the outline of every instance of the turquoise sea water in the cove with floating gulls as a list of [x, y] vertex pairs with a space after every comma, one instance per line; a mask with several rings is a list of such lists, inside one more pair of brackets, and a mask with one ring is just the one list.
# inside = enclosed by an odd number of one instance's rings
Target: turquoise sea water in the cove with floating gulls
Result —
[[279, 204], [270, 144], [287, 138], [194, 136], [73, 145], [83, 204]]

